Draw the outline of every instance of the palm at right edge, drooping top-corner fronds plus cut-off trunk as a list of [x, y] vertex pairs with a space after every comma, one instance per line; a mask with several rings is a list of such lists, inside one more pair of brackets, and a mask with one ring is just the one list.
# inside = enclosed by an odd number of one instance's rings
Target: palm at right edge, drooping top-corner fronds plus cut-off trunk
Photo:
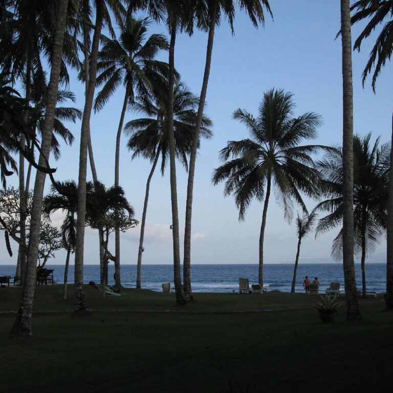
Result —
[[[360, 51], [363, 39], [367, 38], [380, 24], [384, 24], [377, 41], [370, 52], [370, 57], [363, 71], [363, 86], [367, 75], [373, 73], [372, 87], [376, 92], [377, 78], [381, 72], [383, 65], [390, 60], [393, 52], [391, 40], [393, 38], [393, 1], [392, 0], [359, 0], [355, 2], [352, 11], [356, 11], [351, 18], [351, 24], [358, 23], [363, 19], [367, 19], [367, 25], [355, 41], [354, 49]], [[391, 148], [393, 149], [393, 115], [391, 126]], [[390, 167], [393, 165], [393, 150], [390, 152]], [[388, 209], [387, 209], [387, 258], [386, 258], [386, 309], [393, 310], [393, 173], [390, 172], [389, 192], [388, 192]]]

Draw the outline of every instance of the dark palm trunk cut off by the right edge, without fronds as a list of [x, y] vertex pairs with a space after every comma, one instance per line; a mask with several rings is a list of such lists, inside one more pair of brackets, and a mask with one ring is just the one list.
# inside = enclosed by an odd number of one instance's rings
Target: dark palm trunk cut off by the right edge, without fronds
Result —
[[391, 150], [389, 171], [389, 192], [387, 201], [386, 235], [386, 310], [393, 310], [393, 114], [391, 117]]

